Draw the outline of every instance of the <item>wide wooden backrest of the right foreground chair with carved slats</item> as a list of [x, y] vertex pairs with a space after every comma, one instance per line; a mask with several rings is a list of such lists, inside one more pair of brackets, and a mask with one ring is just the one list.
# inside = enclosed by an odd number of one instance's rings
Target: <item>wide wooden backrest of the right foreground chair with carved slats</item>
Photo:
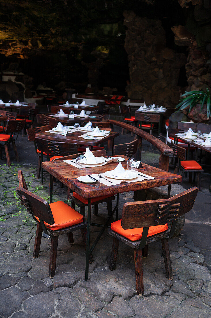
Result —
[[122, 228], [134, 229], [166, 224], [190, 211], [198, 192], [197, 187], [169, 199], [129, 202], [123, 205]]

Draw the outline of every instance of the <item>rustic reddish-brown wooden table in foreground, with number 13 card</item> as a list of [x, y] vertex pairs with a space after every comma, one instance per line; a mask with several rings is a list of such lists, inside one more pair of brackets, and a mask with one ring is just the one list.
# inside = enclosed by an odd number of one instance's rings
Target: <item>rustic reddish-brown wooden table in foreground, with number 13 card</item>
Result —
[[[128, 157], [126, 156], [121, 156], [121, 157], [125, 158], [125, 161], [122, 162], [122, 166], [124, 169], [127, 169]], [[138, 169], [138, 171], [143, 172], [144, 174], [147, 174], [149, 176], [153, 176], [155, 177], [155, 179], [136, 181], [131, 183], [125, 183], [125, 182], [122, 182], [120, 184], [111, 183], [111, 185], [109, 186], [106, 186], [100, 182], [96, 182], [94, 184], [97, 185], [97, 187], [93, 187], [92, 184], [82, 183], [77, 180], [79, 176], [83, 176], [87, 174], [104, 173], [109, 170], [114, 170], [117, 164], [118, 162], [110, 162], [103, 166], [91, 167], [91, 168], [87, 167], [85, 169], [76, 169], [76, 167], [72, 166], [71, 164], [68, 164], [67, 162], [64, 162], [63, 160], [42, 162], [43, 169], [49, 172], [49, 175], [50, 175], [50, 193], [52, 193], [51, 189], [52, 189], [53, 177], [55, 177], [64, 185], [69, 187], [71, 190], [75, 191], [82, 197], [88, 199], [87, 245], [86, 245], [86, 268], [85, 268], [86, 281], [88, 280], [88, 275], [89, 275], [89, 254], [94, 250], [97, 242], [101, 238], [106, 227], [109, 226], [110, 220], [112, 216], [114, 215], [115, 211], [118, 212], [119, 193], [160, 187], [163, 185], [168, 185], [168, 188], [170, 189], [171, 184], [181, 182], [180, 175], [176, 175], [176, 174], [152, 167], [145, 163], [142, 163], [143, 167]], [[168, 189], [168, 197], [170, 197], [169, 189]], [[105, 224], [91, 223], [91, 199], [94, 197], [100, 197], [105, 195], [115, 195], [115, 194], [117, 195], [116, 205], [111, 215], [108, 217], [106, 223]], [[52, 202], [52, 195], [50, 197], [50, 203], [51, 202]], [[91, 225], [101, 227], [102, 230], [100, 231], [96, 240], [93, 242], [93, 245], [91, 246], [91, 248], [89, 248]]]

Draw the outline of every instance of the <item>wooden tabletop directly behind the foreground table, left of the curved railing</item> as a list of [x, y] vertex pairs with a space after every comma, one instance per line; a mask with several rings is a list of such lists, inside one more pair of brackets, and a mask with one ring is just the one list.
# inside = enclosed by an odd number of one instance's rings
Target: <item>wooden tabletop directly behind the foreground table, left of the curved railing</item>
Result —
[[73, 143], [77, 143], [78, 145], [91, 146], [91, 150], [92, 150], [93, 146], [97, 146], [101, 143], [108, 142], [109, 140], [112, 140], [112, 143], [113, 143], [112, 149], [113, 149], [114, 138], [119, 135], [118, 132], [111, 131], [109, 134], [106, 134], [106, 136], [100, 140], [98, 139], [86, 140], [86, 139], [83, 139], [83, 137], [79, 137], [81, 135], [84, 135], [85, 133], [86, 132], [83, 132], [83, 131], [76, 131], [74, 133], [70, 133], [69, 136], [63, 136], [61, 134], [39, 132], [39, 133], [36, 133], [35, 137], [48, 139], [51, 141], [73, 142]]

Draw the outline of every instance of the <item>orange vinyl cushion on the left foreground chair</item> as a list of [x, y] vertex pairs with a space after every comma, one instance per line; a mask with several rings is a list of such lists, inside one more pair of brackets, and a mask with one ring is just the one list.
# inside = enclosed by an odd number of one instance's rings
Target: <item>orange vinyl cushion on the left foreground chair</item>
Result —
[[[56, 231], [83, 222], [83, 216], [68, 204], [56, 201], [49, 205], [54, 217], [54, 224], [50, 225], [44, 222], [47, 228]], [[39, 221], [39, 218], [35, 218]]]

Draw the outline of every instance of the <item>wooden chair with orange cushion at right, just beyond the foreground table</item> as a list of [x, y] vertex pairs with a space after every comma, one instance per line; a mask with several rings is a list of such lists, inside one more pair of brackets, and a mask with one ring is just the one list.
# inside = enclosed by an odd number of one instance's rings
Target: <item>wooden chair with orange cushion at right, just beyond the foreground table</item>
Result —
[[[194, 173], [194, 182], [195, 182], [195, 173], [198, 176], [198, 188], [199, 191], [201, 189], [201, 172], [204, 172], [200, 164], [195, 160], [186, 160], [186, 149], [175, 145], [173, 141], [171, 141], [171, 148], [174, 151], [174, 157], [178, 158], [178, 164], [175, 167], [175, 173], [179, 169], [179, 173], [181, 171], [181, 176], [183, 180], [183, 176], [185, 173], [189, 173], [189, 182], [192, 182], [192, 173]], [[182, 184], [182, 182], [181, 182]]]

